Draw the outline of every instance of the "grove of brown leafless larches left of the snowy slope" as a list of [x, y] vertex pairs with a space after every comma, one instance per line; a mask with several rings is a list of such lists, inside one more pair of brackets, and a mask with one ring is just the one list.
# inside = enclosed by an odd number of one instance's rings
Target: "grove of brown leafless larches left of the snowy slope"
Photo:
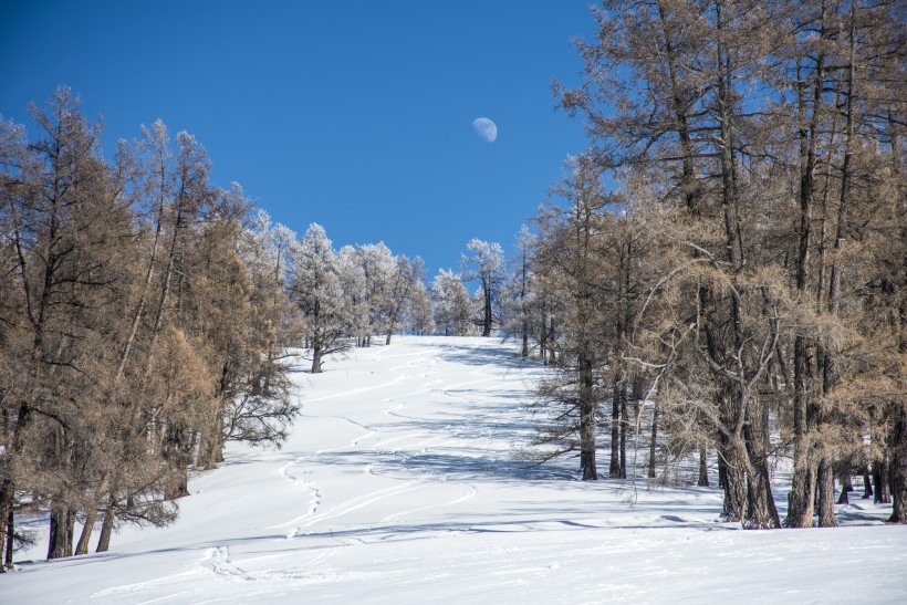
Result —
[[279, 444], [298, 409], [285, 234], [250, 252], [248, 200], [186, 133], [174, 148], [158, 121], [108, 160], [69, 90], [32, 116], [34, 142], [0, 125], [3, 569], [24, 507], [49, 513], [49, 559], [97, 524], [106, 551], [117, 523], [171, 522], [225, 440]]

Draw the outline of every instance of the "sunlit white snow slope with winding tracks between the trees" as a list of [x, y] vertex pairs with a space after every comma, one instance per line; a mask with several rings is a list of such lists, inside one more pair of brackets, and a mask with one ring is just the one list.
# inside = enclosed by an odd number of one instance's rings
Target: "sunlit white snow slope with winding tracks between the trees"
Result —
[[715, 488], [518, 461], [542, 372], [498, 341], [442, 337], [300, 371], [282, 450], [231, 445], [177, 523], [124, 528], [110, 553], [23, 562], [39, 543], [0, 576], [0, 602], [907, 603], [890, 507], [854, 500], [835, 530], [742, 531], [716, 521]]

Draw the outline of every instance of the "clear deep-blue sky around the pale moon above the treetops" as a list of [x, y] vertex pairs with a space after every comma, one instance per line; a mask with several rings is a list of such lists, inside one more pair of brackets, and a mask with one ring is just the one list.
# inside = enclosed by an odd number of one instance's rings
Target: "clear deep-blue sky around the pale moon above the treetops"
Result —
[[30, 126], [66, 84], [110, 148], [159, 117], [300, 236], [383, 240], [434, 273], [473, 237], [511, 253], [585, 147], [550, 83], [577, 81], [590, 2], [0, 0], [0, 114]]

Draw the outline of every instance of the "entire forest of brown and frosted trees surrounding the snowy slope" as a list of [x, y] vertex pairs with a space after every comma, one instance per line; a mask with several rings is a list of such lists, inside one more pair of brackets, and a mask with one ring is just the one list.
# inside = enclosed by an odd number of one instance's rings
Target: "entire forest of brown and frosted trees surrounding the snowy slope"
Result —
[[512, 255], [473, 239], [430, 282], [384, 243], [272, 222], [160, 121], [111, 150], [63, 86], [35, 133], [0, 121], [4, 564], [30, 540], [17, 515], [48, 514], [49, 559], [171, 522], [227, 442], [286, 437], [290, 352], [317, 373], [402, 333], [502, 335], [550, 366], [523, 455], [575, 456], [583, 480], [671, 481], [695, 460], [708, 484], [715, 462], [722, 518], [776, 529], [834, 526], [862, 477], [907, 522], [904, 8], [593, 15], [582, 84], [552, 84], [588, 148]]

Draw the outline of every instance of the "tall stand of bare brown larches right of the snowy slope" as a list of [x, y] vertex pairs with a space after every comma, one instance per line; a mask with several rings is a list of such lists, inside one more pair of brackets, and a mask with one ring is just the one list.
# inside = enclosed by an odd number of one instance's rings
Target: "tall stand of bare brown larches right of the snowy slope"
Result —
[[521, 306], [560, 369], [543, 440], [578, 450], [584, 479], [603, 421], [626, 476], [651, 399], [648, 474], [657, 432], [701, 469], [717, 457], [726, 519], [833, 526], [835, 480], [846, 501], [862, 474], [907, 520], [903, 9], [595, 10], [582, 85], [554, 84], [591, 146], [534, 218]]

